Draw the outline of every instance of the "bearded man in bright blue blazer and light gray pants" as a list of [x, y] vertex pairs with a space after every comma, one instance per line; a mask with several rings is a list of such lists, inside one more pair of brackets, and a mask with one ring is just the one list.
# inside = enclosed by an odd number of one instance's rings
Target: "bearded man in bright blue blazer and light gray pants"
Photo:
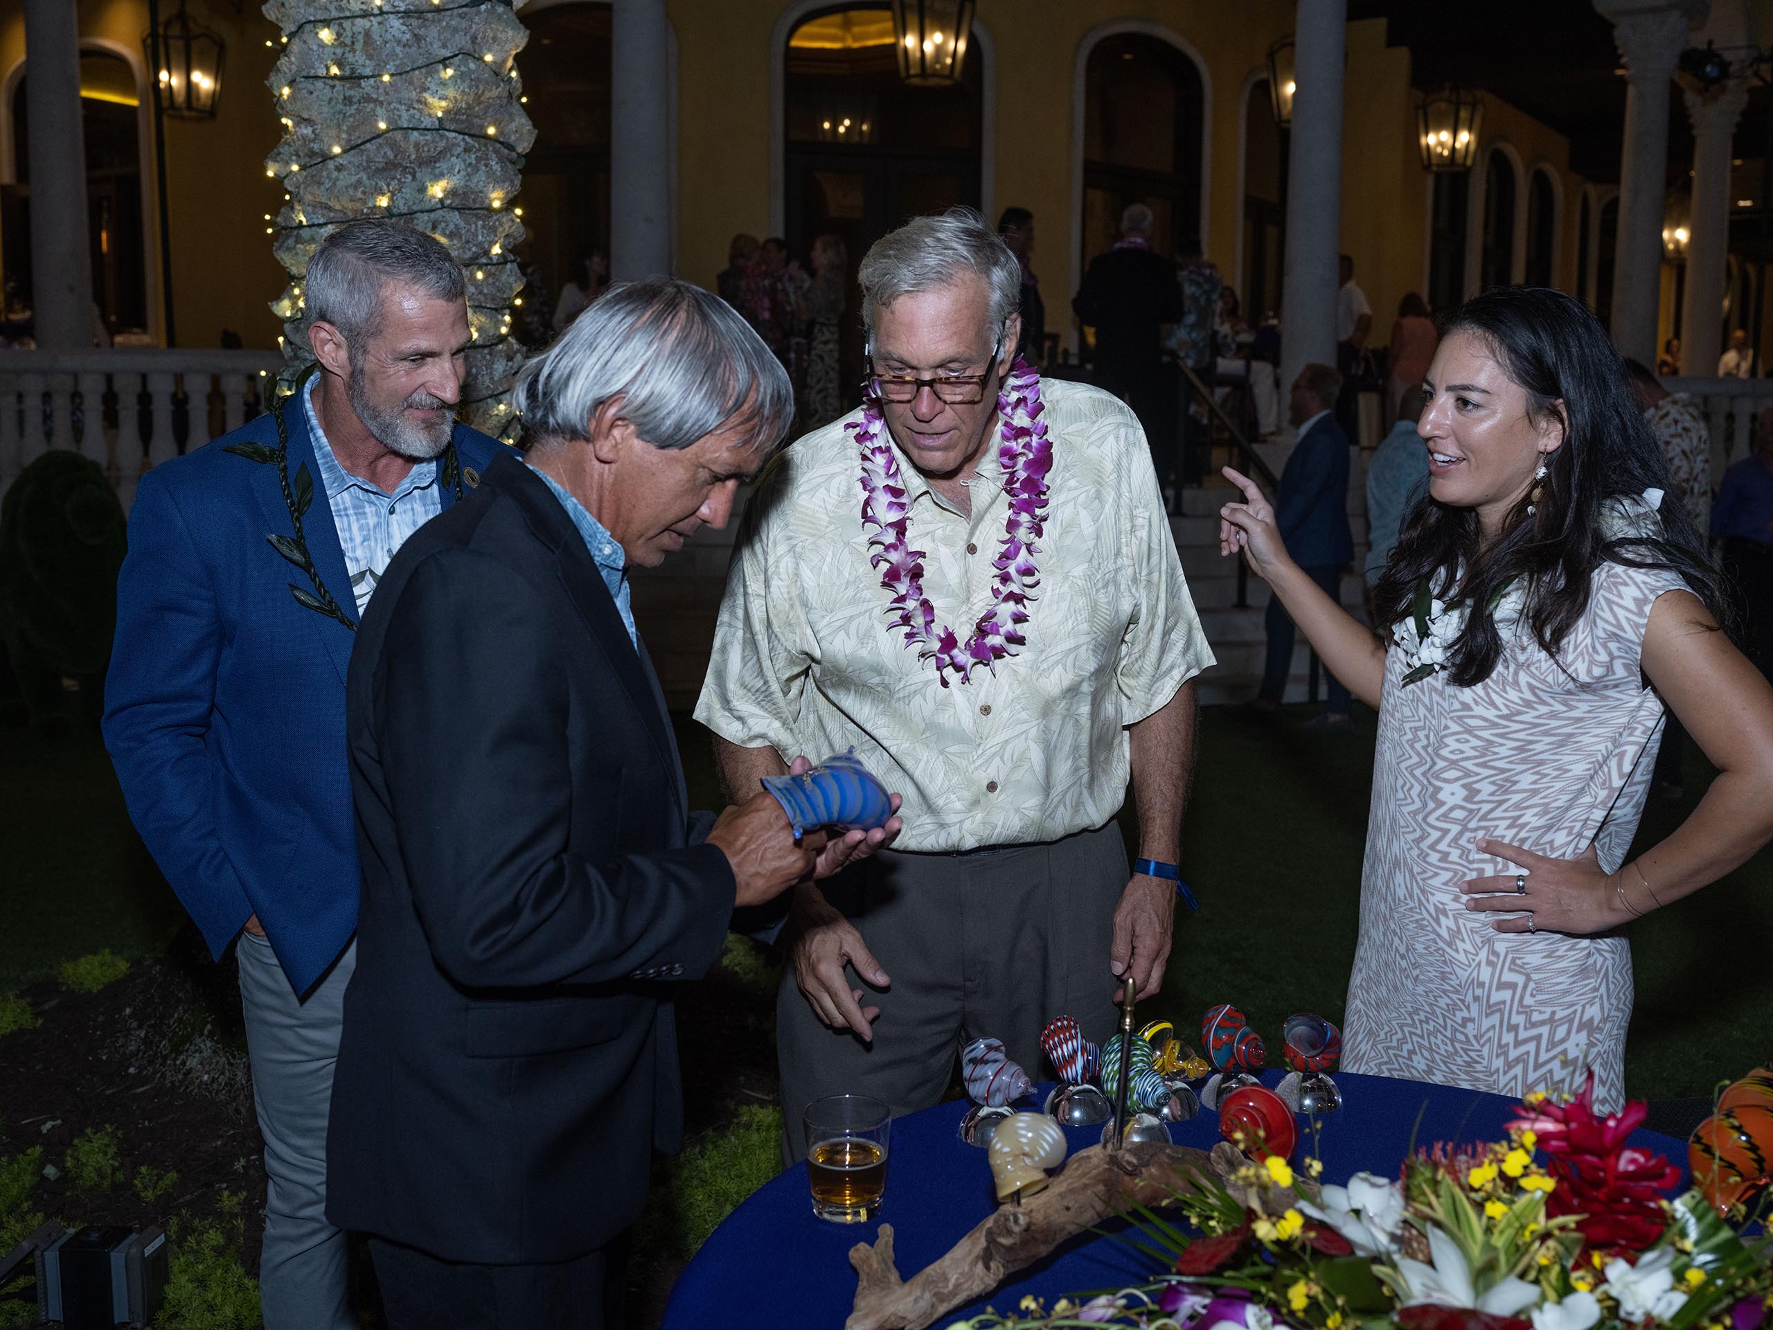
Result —
[[356, 622], [399, 544], [507, 450], [454, 424], [472, 337], [461, 268], [436, 239], [340, 227], [309, 262], [305, 307], [319, 372], [142, 477], [105, 685], [105, 743], [142, 841], [215, 956], [239, 943], [269, 1176], [266, 1330], [355, 1325], [324, 1144], [356, 963]]

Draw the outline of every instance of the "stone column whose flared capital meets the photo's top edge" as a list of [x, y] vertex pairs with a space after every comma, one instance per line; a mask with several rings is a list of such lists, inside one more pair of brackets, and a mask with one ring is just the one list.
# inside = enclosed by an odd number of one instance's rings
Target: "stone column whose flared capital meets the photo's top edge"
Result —
[[1626, 144], [1619, 165], [1619, 243], [1613, 257], [1613, 344], [1656, 364], [1661, 296], [1661, 218], [1668, 188], [1668, 82], [1691, 16], [1709, 0], [1594, 0], [1613, 21], [1626, 62]]

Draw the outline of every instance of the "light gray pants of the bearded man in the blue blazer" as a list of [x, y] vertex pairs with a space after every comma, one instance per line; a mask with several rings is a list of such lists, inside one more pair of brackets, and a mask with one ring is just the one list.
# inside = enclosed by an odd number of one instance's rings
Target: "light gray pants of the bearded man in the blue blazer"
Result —
[[269, 1177], [259, 1250], [264, 1330], [356, 1330], [346, 1236], [326, 1222], [326, 1114], [356, 942], [307, 1000], [289, 988], [269, 942], [241, 933], [234, 951]]

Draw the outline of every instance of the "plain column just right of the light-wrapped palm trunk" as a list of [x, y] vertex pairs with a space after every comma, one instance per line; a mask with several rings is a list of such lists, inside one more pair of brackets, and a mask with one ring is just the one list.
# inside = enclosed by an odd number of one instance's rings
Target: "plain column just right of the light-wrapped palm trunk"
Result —
[[615, 0], [610, 30], [610, 277], [670, 273], [670, 25], [665, 0]]

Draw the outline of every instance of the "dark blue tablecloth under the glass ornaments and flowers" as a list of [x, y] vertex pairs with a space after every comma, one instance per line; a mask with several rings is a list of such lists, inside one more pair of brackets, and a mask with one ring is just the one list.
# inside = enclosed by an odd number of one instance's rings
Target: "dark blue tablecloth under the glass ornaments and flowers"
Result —
[[[1280, 1073], [1268, 1073], [1269, 1085]], [[1411, 1144], [1436, 1140], [1500, 1140], [1502, 1124], [1514, 1099], [1477, 1091], [1427, 1085], [1385, 1076], [1337, 1075], [1342, 1110], [1319, 1119], [1312, 1144], [1301, 1117], [1300, 1153], [1316, 1153], [1324, 1163], [1323, 1181], [1346, 1183], [1367, 1170], [1397, 1174]], [[1018, 1107], [1046, 1101], [1048, 1085]], [[911, 1279], [986, 1218], [996, 1199], [986, 1153], [959, 1140], [957, 1128], [966, 1103], [943, 1103], [892, 1124], [886, 1162], [886, 1197], [872, 1224], [826, 1224], [814, 1218], [807, 1188], [807, 1165], [789, 1169], [741, 1204], [697, 1252], [672, 1291], [665, 1330], [835, 1330], [849, 1316], [856, 1275], [849, 1248], [874, 1241], [879, 1224], [894, 1227], [899, 1273]], [[1101, 1128], [1067, 1128], [1071, 1149], [1101, 1142]], [[1179, 1146], [1211, 1149], [1218, 1140], [1218, 1114], [1202, 1112], [1190, 1123], [1170, 1126]], [[1661, 1151], [1686, 1167], [1686, 1144], [1654, 1131], [1638, 1131], [1633, 1144]], [[972, 1316], [993, 1305], [1016, 1310], [1025, 1295], [1051, 1303], [1066, 1293], [1117, 1289], [1154, 1277], [1151, 1259], [1126, 1243], [1083, 1234], [1041, 1264], [996, 1289], [986, 1302], [956, 1309], [938, 1325]]]

